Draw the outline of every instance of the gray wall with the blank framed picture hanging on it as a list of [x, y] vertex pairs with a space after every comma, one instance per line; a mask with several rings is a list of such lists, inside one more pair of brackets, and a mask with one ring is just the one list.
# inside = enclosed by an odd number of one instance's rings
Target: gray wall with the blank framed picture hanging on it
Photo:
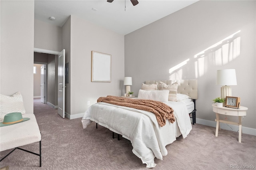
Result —
[[[70, 115], [83, 114], [97, 99], [121, 96], [124, 88], [124, 36], [71, 16]], [[111, 82], [91, 82], [91, 51], [111, 55]], [[68, 57], [68, 56], [67, 56]], [[68, 60], [67, 60], [68, 61]]]

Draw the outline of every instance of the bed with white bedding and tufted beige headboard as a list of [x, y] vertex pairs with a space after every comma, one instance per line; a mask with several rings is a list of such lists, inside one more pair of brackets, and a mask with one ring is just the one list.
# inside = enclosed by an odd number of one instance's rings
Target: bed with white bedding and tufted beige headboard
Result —
[[[173, 92], [172, 85], [174, 84], [177, 85], [176, 93], [178, 94], [176, 94], [176, 96], [174, 93], [171, 93]], [[151, 85], [153, 85], [155, 89], [150, 89]], [[143, 87], [146, 87], [148, 91], [145, 91], [145, 89], [142, 90]], [[173, 123], [166, 121], [166, 125], [160, 126], [156, 120], [156, 116], [149, 111], [98, 102], [90, 106], [84, 113], [82, 125], [85, 129], [94, 121], [110, 129], [112, 132], [121, 134], [122, 137], [131, 141], [133, 146], [132, 152], [142, 160], [142, 163], [146, 164], [147, 168], [153, 168], [156, 166], [154, 158], [162, 160], [163, 156], [168, 154], [166, 145], [174, 142], [180, 135], [186, 138], [190, 130], [192, 130], [189, 115], [190, 113], [195, 115], [196, 109], [195, 106], [189, 105], [188, 107], [187, 102], [184, 102], [184, 100], [189, 98], [192, 100], [192, 103], [194, 103], [198, 98], [197, 80], [145, 81], [145, 83], [142, 84], [142, 89], [140, 89], [138, 94], [139, 99], [143, 97], [141, 94], [144, 94], [144, 92], [145, 94], [158, 94], [158, 92], [162, 94], [162, 92], [166, 93], [168, 90], [168, 101], [166, 101], [166, 95], [164, 95], [165, 102], [163, 103], [173, 109], [175, 115], [175, 121]], [[143, 93], [140, 93], [141, 90]], [[161, 96], [162, 95], [157, 95], [155, 97], [161, 98]], [[173, 97], [176, 97], [175, 101], [170, 101], [169, 99], [173, 99]], [[152, 95], [149, 99], [151, 98]], [[194, 119], [195, 117], [192, 118], [193, 123]]]

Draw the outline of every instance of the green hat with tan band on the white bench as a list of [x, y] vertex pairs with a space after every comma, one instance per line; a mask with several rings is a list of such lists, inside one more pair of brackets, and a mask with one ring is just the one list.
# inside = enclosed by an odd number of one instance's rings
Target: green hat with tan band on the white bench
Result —
[[30, 118], [22, 118], [20, 112], [8, 113], [4, 116], [4, 121], [0, 123], [0, 127], [13, 125], [15, 123], [20, 123], [29, 120]]

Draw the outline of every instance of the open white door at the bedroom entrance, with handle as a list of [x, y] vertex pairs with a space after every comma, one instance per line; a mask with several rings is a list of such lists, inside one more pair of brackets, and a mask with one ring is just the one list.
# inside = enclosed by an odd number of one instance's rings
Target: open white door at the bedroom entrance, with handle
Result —
[[58, 114], [65, 118], [65, 49], [58, 55]]

